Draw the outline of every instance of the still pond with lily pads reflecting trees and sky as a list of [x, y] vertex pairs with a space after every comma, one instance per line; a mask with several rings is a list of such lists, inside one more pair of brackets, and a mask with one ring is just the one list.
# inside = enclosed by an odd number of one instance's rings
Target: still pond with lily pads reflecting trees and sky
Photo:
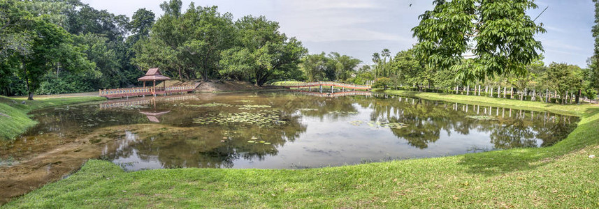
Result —
[[[551, 146], [579, 121], [370, 92], [307, 91], [110, 100], [36, 111], [34, 118], [40, 123], [20, 139], [0, 142], [0, 172], [30, 176], [0, 179], [12, 188], [41, 185], [89, 158], [127, 171], [304, 169]], [[18, 183], [25, 180], [33, 183]]]

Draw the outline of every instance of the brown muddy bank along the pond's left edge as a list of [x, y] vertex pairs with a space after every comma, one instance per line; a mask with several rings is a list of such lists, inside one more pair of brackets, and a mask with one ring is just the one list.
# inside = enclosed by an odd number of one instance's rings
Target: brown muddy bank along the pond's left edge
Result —
[[[164, 132], [192, 132], [190, 128], [158, 124], [121, 125], [90, 132], [76, 138], [76, 133], [62, 136], [41, 134], [24, 140], [7, 142], [2, 147], [2, 159], [11, 162], [0, 164], [0, 205], [10, 199], [52, 183], [80, 169], [89, 159], [97, 159], [106, 153], [127, 146], [128, 132], [147, 137]], [[45, 140], [56, 139], [61, 140]]]

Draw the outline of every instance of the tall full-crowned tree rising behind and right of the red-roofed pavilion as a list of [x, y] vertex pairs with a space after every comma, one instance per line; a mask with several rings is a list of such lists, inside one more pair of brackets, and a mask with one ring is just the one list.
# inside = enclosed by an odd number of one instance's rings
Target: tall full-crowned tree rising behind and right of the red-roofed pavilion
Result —
[[232, 15], [193, 3], [179, 14], [180, 1], [174, 0], [162, 8], [166, 15], [154, 24], [148, 40], [136, 44], [133, 62], [185, 79], [217, 77], [221, 52], [233, 47], [235, 40]]

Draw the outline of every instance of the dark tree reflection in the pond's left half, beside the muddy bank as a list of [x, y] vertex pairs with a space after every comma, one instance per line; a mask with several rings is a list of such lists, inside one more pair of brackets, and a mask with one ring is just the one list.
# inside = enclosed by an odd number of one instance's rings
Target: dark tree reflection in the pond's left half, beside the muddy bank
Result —
[[[157, 160], [165, 168], [231, 168], [238, 159], [264, 160], [265, 157], [277, 155], [277, 148], [284, 146], [287, 141], [295, 141], [305, 132], [306, 126], [298, 118], [289, 116], [285, 118], [287, 125], [270, 128], [215, 125], [185, 131], [165, 130], [122, 146], [110, 157], [137, 155], [140, 160]], [[250, 144], [247, 142], [250, 140], [270, 144]]]

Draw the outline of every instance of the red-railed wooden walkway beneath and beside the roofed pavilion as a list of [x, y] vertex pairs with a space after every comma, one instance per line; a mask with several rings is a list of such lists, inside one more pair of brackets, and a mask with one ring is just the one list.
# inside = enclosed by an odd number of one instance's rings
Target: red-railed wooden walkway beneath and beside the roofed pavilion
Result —
[[166, 86], [166, 87], [140, 87], [140, 88], [115, 88], [115, 89], [101, 89], [99, 91], [101, 97], [108, 99], [113, 98], [130, 98], [140, 97], [145, 95], [172, 95], [173, 93], [187, 93], [192, 92], [199, 86], [200, 83], [194, 86]]

